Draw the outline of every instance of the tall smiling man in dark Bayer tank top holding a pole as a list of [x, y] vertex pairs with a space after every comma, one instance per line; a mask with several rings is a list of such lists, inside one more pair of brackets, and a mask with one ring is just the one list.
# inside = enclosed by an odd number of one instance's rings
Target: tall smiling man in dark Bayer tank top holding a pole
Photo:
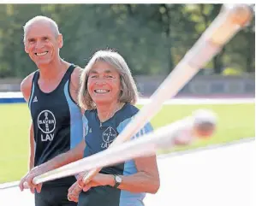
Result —
[[[29, 173], [21, 180], [35, 192], [35, 205], [76, 205], [67, 199], [75, 178], [33, 185], [33, 177], [82, 158], [85, 141], [77, 106], [81, 68], [63, 61], [59, 50], [63, 36], [57, 23], [36, 16], [24, 26], [25, 51], [37, 70], [21, 82], [21, 92], [31, 111]], [[81, 149], [82, 148], [82, 149]], [[71, 150], [72, 149], [72, 150]]]

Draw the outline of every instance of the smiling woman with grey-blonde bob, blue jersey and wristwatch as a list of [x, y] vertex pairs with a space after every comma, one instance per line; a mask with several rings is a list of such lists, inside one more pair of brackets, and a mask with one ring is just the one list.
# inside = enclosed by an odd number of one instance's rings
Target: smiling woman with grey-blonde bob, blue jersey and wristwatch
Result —
[[[127, 63], [111, 50], [100, 50], [92, 56], [80, 78], [79, 103], [86, 112], [86, 148], [84, 157], [107, 149], [116, 136], [139, 111], [134, 104], [138, 91]], [[147, 123], [132, 138], [151, 132]], [[74, 187], [68, 197], [77, 201]], [[79, 206], [140, 206], [146, 193], [156, 193], [159, 188], [156, 156], [141, 157], [103, 168], [87, 185], [82, 185]]]

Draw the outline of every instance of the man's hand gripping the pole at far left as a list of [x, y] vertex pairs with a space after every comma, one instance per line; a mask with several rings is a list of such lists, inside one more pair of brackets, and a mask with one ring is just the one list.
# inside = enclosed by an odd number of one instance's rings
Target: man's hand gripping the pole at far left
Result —
[[33, 168], [30, 170], [22, 179], [20, 182], [20, 189], [23, 191], [24, 189], [30, 189], [30, 191], [34, 194], [34, 191], [37, 190], [37, 192], [41, 191], [42, 184], [34, 185], [33, 184], [33, 178], [40, 175], [39, 170], [37, 168]]

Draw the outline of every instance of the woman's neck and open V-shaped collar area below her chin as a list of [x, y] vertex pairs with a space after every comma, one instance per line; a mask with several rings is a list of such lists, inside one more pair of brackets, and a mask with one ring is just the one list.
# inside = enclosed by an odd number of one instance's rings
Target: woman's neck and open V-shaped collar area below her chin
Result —
[[102, 104], [97, 106], [98, 119], [100, 122], [109, 120], [116, 112], [122, 109], [124, 103]]

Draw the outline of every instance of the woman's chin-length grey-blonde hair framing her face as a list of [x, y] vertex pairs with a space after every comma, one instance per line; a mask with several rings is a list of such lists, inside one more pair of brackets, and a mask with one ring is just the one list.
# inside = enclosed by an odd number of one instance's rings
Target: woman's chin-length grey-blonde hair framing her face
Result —
[[116, 51], [99, 50], [91, 58], [80, 76], [80, 91], [78, 94], [78, 103], [82, 109], [96, 109], [87, 89], [88, 76], [92, 66], [96, 62], [105, 62], [116, 68], [120, 75], [121, 91], [119, 96], [120, 103], [137, 103], [139, 96], [134, 78], [128, 68], [127, 62]]

